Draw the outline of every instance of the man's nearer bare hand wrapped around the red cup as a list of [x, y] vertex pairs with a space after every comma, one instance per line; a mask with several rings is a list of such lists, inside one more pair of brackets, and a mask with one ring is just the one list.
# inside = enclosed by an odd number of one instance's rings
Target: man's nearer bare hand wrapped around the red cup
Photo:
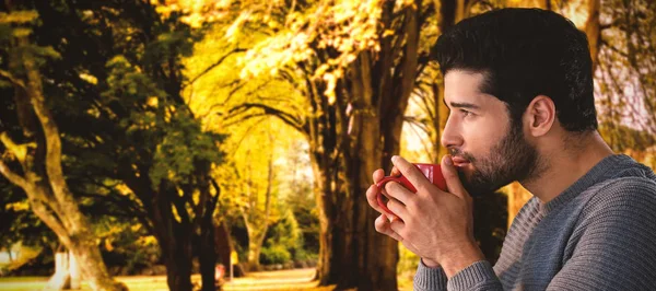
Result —
[[[376, 230], [403, 243], [429, 267], [442, 265], [449, 277], [482, 259], [473, 240], [472, 200], [462, 187], [450, 156], [442, 160], [448, 191], [440, 190], [402, 158], [393, 158], [393, 163], [418, 191], [413, 194], [398, 183], [388, 183], [385, 191], [391, 199], [387, 207], [398, 218], [388, 220], [385, 214], [380, 216], [375, 222]], [[382, 174], [376, 171], [374, 181], [379, 181]], [[375, 202], [377, 188], [373, 187], [367, 190], [367, 200], [383, 213]]]

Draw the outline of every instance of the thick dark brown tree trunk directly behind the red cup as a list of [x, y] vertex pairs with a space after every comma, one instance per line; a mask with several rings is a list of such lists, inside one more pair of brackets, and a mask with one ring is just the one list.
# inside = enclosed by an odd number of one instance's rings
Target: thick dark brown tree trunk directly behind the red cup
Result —
[[[377, 55], [361, 53], [347, 70], [347, 79], [338, 83], [336, 108], [325, 114], [333, 119], [325, 123], [321, 139], [335, 147], [321, 144], [313, 163], [318, 167], [316, 187], [323, 195], [318, 203], [325, 216], [320, 220], [318, 275], [328, 278], [320, 280], [321, 284], [397, 290], [398, 243], [375, 231], [378, 213], [371, 209], [364, 193], [373, 183], [371, 174], [379, 167], [389, 171], [389, 158], [399, 152], [403, 114], [418, 69], [419, 7], [421, 1], [406, 8], [403, 35], [399, 36], [403, 45], [394, 47], [389, 38]], [[393, 22], [393, 11], [394, 2], [385, 2], [384, 25]], [[397, 60], [399, 51], [401, 61]]]

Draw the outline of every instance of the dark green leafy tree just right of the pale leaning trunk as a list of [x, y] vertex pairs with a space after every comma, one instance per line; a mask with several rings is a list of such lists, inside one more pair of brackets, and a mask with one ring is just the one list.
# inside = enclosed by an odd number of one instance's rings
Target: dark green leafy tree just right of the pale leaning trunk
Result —
[[203, 288], [213, 289], [220, 188], [211, 170], [224, 136], [204, 131], [181, 97], [181, 58], [202, 30], [162, 20], [143, 1], [30, 4], [43, 22], [36, 42], [61, 56], [42, 73], [44, 91], [61, 96], [51, 107], [72, 187], [117, 203], [155, 235], [172, 290], [191, 289], [195, 253]]

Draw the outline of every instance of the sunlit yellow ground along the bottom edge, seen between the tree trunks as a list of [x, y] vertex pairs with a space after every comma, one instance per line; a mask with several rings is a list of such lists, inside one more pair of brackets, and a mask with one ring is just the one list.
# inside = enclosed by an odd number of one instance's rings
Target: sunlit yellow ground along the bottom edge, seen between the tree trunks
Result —
[[[316, 281], [312, 281], [315, 269], [295, 269], [281, 271], [261, 271], [250, 272], [247, 277], [235, 278], [224, 284], [224, 290], [313, 290], [328, 291], [335, 287], [317, 287]], [[134, 291], [157, 291], [168, 290], [166, 286], [166, 276], [127, 276], [116, 277], [117, 280], [126, 283], [130, 290]], [[200, 281], [200, 275], [195, 275], [191, 280]], [[47, 277], [10, 277], [0, 278], [0, 290], [27, 291], [42, 290]], [[399, 279], [400, 290], [412, 290], [412, 282]], [[82, 283], [82, 290], [91, 290], [89, 284]]]

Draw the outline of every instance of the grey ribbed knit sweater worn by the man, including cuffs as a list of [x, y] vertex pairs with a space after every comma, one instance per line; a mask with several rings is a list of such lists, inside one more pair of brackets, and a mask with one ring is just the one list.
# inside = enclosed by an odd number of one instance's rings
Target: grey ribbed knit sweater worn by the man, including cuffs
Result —
[[477, 261], [447, 281], [419, 265], [414, 290], [656, 290], [656, 175], [608, 156], [555, 199], [528, 200], [494, 267]]

